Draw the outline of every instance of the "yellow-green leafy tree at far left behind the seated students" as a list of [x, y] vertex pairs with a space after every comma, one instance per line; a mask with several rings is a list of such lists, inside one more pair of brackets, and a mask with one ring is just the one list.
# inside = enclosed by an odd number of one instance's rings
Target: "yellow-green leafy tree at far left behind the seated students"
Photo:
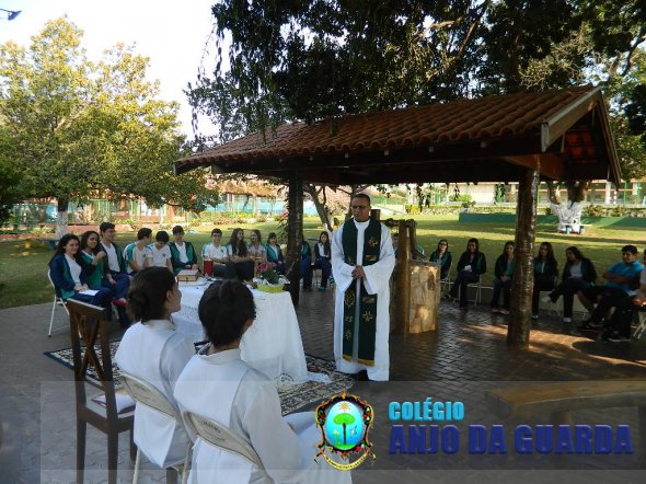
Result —
[[69, 200], [96, 192], [142, 196], [151, 206], [211, 200], [204, 172], [172, 175], [183, 142], [177, 104], [155, 99], [148, 59], [117, 45], [92, 62], [81, 39], [62, 18], [47, 22], [27, 48], [0, 46], [0, 127], [22, 198], [57, 198], [58, 237], [67, 231]]

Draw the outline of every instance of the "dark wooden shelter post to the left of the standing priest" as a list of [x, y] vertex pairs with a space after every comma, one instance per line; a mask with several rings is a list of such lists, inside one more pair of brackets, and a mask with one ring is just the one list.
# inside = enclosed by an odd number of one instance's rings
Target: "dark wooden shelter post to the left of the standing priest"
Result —
[[287, 256], [285, 267], [289, 279], [291, 301], [297, 307], [300, 296], [300, 244], [301, 234], [303, 233], [303, 181], [298, 170], [292, 170], [289, 174], [287, 204]]

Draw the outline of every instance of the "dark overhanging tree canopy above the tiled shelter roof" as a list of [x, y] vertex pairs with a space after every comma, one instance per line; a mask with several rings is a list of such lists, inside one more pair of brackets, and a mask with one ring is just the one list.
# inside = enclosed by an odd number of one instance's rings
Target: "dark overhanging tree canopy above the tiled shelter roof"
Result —
[[285, 120], [593, 82], [624, 175], [646, 174], [643, 0], [220, 0], [212, 13], [216, 69], [189, 95], [219, 141]]

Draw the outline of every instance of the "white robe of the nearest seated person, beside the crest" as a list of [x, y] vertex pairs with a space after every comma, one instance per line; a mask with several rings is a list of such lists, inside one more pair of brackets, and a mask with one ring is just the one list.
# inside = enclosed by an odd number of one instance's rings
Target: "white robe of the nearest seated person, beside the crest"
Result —
[[323, 459], [314, 462], [321, 440], [314, 413], [284, 419], [275, 383], [247, 367], [240, 348], [194, 356], [177, 380], [175, 400], [182, 412], [216, 420], [251, 443], [270, 477], [240, 456], [197, 438], [191, 483], [351, 483], [349, 472], [336, 471]]

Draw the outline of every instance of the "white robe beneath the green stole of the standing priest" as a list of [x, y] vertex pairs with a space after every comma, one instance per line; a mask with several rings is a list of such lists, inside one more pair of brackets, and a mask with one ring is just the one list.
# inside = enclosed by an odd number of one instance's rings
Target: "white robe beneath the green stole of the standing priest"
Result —
[[379, 261], [372, 265], [364, 266], [364, 235], [370, 220], [358, 222], [354, 220], [357, 228], [357, 265], [364, 267], [366, 278], [364, 285], [369, 295], [377, 295], [377, 331], [374, 341], [374, 366], [366, 366], [357, 361], [357, 348], [359, 344], [359, 311], [355, 316], [355, 339], [353, 349], [353, 361], [343, 359], [343, 318], [344, 318], [344, 293], [356, 285], [356, 293], [360, 293], [360, 280], [353, 279], [354, 265], [346, 264], [343, 252], [343, 226], [341, 226], [332, 238], [332, 272], [336, 284], [334, 303], [334, 359], [336, 368], [344, 373], [357, 373], [361, 370], [368, 371], [368, 378], [376, 381], [388, 381], [390, 370], [390, 355], [388, 339], [390, 334], [390, 276], [395, 266], [395, 252], [390, 235], [390, 230], [381, 224], [381, 244]]

